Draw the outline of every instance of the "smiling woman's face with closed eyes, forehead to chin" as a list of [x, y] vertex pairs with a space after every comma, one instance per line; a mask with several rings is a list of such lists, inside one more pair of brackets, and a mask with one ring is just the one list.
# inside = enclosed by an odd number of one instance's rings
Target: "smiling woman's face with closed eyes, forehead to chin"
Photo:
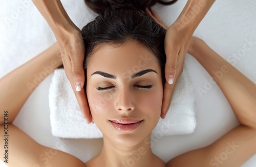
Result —
[[103, 44], [87, 66], [87, 97], [105, 139], [131, 147], [151, 134], [162, 105], [161, 68], [143, 45]]

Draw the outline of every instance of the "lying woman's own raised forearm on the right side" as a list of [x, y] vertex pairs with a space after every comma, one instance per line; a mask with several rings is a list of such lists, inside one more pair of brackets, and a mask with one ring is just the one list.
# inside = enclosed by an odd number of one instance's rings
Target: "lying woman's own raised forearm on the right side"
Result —
[[239, 122], [256, 129], [256, 85], [198, 38], [191, 54], [215, 79]]

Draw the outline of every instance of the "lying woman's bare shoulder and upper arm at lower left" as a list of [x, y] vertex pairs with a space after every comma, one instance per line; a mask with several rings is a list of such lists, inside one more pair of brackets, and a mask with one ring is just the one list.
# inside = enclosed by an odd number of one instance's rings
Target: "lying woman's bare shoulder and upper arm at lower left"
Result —
[[[3, 125], [0, 129], [4, 129]], [[8, 125], [8, 166], [86, 166], [80, 159], [68, 153], [42, 146], [13, 124]], [[3, 131], [3, 130], [2, 130]], [[1, 131], [0, 134], [4, 135]], [[0, 144], [4, 145], [4, 140]], [[4, 147], [0, 149], [3, 152]], [[3, 157], [1, 158], [2, 161]]]

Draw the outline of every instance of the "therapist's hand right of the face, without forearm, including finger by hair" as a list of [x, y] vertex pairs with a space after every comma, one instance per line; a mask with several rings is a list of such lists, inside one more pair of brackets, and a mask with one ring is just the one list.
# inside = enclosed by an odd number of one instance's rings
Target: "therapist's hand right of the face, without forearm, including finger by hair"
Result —
[[[172, 101], [174, 88], [180, 74], [183, 71], [183, 65], [185, 60], [185, 54], [188, 49], [190, 36], [185, 36], [178, 30], [174, 25], [168, 27], [160, 19], [158, 14], [151, 8], [145, 9], [145, 12], [155, 22], [161, 25], [166, 31], [164, 40], [164, 49], [166, 54], [166, 65], [165, 65], [165, 84], [164, 84], [164, 95], [162, 104], [161, 117], [164, 118], [167, 114], [167, 110]], [[174, 79], [176, 78], [176, 79]]]

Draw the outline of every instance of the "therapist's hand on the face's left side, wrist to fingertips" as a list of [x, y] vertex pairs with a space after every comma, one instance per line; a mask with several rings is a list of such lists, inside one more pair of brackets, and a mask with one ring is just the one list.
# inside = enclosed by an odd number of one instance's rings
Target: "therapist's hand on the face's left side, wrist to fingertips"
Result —
[[84, 42], [81, 31], [75, 27], [70, 31], [61, 31], [55, 35], [61, 53], [65, 73], [71, 83], [83, 117], [88, 123], [92, 122], [86, 93], [83, 89], [86, 83], [83, 70]]

